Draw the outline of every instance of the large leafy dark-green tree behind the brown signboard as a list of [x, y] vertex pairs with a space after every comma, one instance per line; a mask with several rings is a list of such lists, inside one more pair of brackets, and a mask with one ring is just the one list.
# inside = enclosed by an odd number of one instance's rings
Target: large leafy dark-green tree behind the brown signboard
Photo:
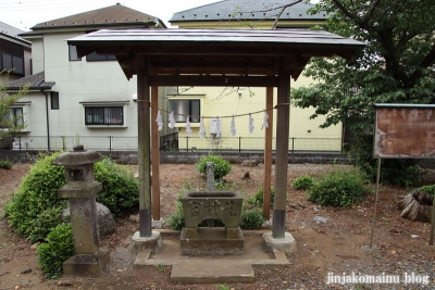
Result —
[[[314, 58], [304, 75], [319, 80], [294, 89], [295, 105], [325, 115], [321, 127], [343, 123], [356, 136], [361, 167], [374, 175], [374, 103], [435, 101], [435, 0], [323, 0], [312, 13], [326, 11], [324, 28], [366, 43], [355, 61]], [[383, 180], [410, 184], [418, 178], [412, 160], [385, 160]], [[391, 180], [391, 178], [395, 178]]]

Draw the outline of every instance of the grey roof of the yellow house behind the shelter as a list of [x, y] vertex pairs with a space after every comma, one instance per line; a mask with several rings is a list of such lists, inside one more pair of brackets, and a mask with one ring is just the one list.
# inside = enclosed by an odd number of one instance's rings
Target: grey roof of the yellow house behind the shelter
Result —
[[[170, 22], [191, 21], [274, 21], [288, 0], [224, 0], [174, 13]], [[313, 4], [297, 3], [281, 15], [283, 21], [313, 21], [327, 18], [326, 13], [307, 14]]]

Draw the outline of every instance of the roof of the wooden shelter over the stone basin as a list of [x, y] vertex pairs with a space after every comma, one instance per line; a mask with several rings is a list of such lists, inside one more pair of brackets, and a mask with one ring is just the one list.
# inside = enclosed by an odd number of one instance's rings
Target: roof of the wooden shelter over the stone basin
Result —
[[[127, 78], [145, 66], [136, 60], [147, 56], [160, 75], [268, 75], [285, 66], [296, 79], [311, 56], [351, 60], [364, 47], [327, 31], [298, 29], [101, 29], [67, 43], [77, 46], [78, 56], [115, 54]], [[163, 83], [173, 86], [175, 80], [154, 84]]]

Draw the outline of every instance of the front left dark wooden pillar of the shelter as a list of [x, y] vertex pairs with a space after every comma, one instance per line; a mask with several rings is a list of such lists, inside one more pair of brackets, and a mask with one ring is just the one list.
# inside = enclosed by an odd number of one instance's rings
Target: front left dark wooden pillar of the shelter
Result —
[[137, 73], [137, 127], [139, 162], [139, 237], [151, 237], [150, 93], [147, 70]]

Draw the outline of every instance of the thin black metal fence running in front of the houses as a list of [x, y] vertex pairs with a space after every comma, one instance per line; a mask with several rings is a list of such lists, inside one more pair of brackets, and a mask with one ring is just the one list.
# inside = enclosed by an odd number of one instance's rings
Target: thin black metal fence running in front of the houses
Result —
[[[82, 143], [88, 150], [96, 151], [137, 151], [137, 137], [116, 136], [51, 136], [50, 150], [72, 150], [76, 143]], [[38, 150], [48, 149], [46, 136], [24, 137], [16, 136], [11, 140], [11, 150]], [[161, 151], [201, 152], [201, 151], [258, 151], [264, 150], [262, 137], [225, 137], [225, 138], [199, 138], [179, 137], [177, 133], [160, 137]], [[272, 150], [275, 150], [275, 138], [272, 140]], [[290, 137], [288, 150], [295, 151], [343, 151], [341, 138], [299, 138]]]

